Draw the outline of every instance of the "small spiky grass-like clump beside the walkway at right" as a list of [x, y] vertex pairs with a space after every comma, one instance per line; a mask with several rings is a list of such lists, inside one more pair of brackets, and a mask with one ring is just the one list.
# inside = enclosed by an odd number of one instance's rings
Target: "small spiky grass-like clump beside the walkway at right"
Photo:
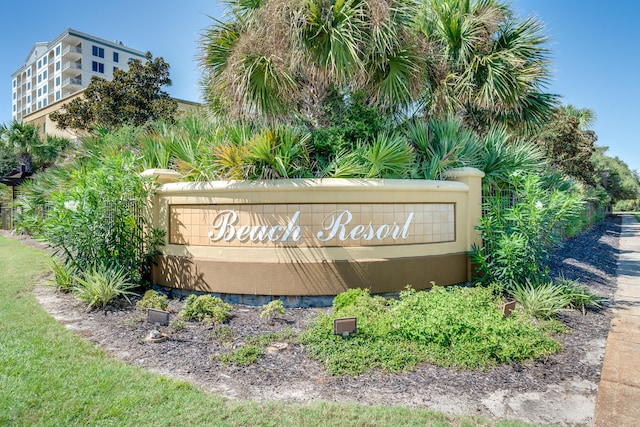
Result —
[[537, 319], [551, 319], [571, 303], [565, 290], [553, 282], [515, 284], [511, 293], [525, 313]]

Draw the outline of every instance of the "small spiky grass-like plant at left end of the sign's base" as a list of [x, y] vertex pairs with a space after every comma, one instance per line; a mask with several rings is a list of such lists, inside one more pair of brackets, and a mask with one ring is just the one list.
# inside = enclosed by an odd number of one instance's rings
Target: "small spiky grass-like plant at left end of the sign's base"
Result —
[[135, 284], [129, 281], [124, 269], [119, 267], [94, 267], [76, 277], [73, 292], [90, 308], [105, 307], [117, 298], [129, 301], [129, 295], [136, 295], [131, 289]]

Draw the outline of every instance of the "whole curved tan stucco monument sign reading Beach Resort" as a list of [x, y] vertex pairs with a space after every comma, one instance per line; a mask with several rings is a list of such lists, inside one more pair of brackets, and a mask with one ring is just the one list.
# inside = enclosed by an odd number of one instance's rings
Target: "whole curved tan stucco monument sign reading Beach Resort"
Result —
[[[163, 179], [162, 171], [148, 174]], [[447, 181], [168, 182], [153, 200], [167, 244], [154, 283], [221, 296], [372, 293], [469, 277], [482, 172]]]

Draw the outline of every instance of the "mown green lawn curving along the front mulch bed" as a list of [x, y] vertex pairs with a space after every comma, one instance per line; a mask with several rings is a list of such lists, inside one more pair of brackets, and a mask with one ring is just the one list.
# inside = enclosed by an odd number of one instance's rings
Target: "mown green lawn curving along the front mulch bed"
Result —
[[130, 366], [66, 330], [32, 294], [49, 257], [0, 237], [0, 425], [520, 426], [422, 409], [223, 399]]

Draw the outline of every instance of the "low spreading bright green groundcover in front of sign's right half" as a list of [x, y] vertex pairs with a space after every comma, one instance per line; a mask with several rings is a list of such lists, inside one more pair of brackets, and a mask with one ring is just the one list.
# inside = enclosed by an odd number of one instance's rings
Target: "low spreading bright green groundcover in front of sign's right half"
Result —
[[[400, 300], [356, 296], [332, 315], [319, 315], [300, 341], [333, 375], [371, 369], [397, 372], [419, 363], [466, 369], [545, 357], [560, 344], [522, 313], [503, 318], [493, 288], [434, 287], [403, 291]], [[354, 292], [352, 291], [351, 294]], [[353, 301], [353, 295], [345, 297]], [[338, 299], [340, 301], [341, 299]], [[333, 334], [333, 319], [354, 316], [358, 330]]]

